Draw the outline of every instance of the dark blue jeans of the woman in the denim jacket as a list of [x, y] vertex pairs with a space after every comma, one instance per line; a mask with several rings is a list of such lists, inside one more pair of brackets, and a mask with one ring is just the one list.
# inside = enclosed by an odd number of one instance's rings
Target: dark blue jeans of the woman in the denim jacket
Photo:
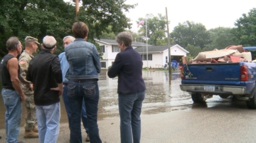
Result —
[[99, 104], [99, 87], [97, 80], [69, 80], [68, 102], [71, 110], [70, 143], [82, 142], [81, 109], [85, 101], [86, 114], [91, 143], [101, 143], [97, 126], [97, 106]]

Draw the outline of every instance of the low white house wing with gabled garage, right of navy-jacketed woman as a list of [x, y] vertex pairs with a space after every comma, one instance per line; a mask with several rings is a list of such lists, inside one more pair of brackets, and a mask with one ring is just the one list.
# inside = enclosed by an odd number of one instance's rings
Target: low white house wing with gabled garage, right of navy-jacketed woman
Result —
[[[180, 45], [170, 45], [171, 49], [171, 61], [176, 60], [178, 63], [181, 61], [182, 56], [186, 56], [189, 53]], [[168, 63], [168, 46], [167, 45], [156, 45], [146, 47], [134, 48], [137, 52], [141, 54], [143, 60], [143, 68], [162, 68]], [[147, 60], [147, 55], [148, 59]]]

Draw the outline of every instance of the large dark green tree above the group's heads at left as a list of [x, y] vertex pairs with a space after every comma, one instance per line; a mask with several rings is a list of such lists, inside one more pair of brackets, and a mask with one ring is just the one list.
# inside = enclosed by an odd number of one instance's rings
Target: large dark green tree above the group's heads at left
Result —
[[[99, 1], [83, 0], [78, 15], [75, 6], [63, 0], [0, 0], [0, 56], [6, 55], [6, 41], [10, 36], [19, 37], [24, 42], [25, 36], [33, 36], [41, 42], [46, 35], [57, 40], [57, 51], [63, 51], [62, 38], [72, 35], [75, 21], [83, 21], [89, 27], [88, 41], [94, 42], [101, 34], [108, 31], [114, 33], [130, 28], [130, 19], [123, 11], [133, 9], [135, 5], [124, 4], [125, 0]], [[99, 46], [97, 46], [99, 50]]]

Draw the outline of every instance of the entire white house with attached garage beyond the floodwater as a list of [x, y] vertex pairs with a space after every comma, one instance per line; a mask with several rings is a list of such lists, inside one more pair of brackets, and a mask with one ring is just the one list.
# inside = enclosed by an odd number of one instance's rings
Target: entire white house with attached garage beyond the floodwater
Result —
[[[101, 68], [108, 68], [115, 61], [115, 56], [120, 52], [120, 48], [117, 42], [112, 39], [94, 39], [97, 44], [101, 47], [102, 60]], [[168, 46], [167, 45], [146, 45], [143, 42], [133, 41], [132, 46], [134, 50], [141, 54], [143, 59], [143, 68], [162, 68], [165, 63], [168, 63]], [[147, 53], [149, 60], [147, 61]], [[182, 56], [186, 56], [189, 53], [180, 45], [171, 45], [171, 60], [176, 60], [180, 62]]]

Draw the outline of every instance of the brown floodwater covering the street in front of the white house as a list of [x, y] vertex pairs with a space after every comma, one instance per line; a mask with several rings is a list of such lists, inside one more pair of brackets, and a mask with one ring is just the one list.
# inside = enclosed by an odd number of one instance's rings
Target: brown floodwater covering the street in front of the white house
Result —
[[[169, 74], [167, 71], [143, 71], [142, 77], [146, 84], [146, 98], [142, 104], [142, 114], [157, 114], [160, 112], [171, 112], [173, 110], [186, 110], [197, 107], [193, 104], [191, 95], [189, 93], [180, 90], [181, 78], [179, 72], [173, 72]], [[170, 80], [169, 80], [170, 79]], [[118, 95], [117, 95], [117, 77], [110, 79], [107, 77], [107, 72], [102, 71], [100, 74], [99, 84], [99, 110], [98, 120], [104, 120], [104, 118], [118, 117]], [[229, 102], [229, 99], [221, 99], [214, 97], [212, 101]], [[202, 106], [199, 105], [199, 106]], [[207, 107], [207, 104], [203, 104]], [[214, 106], [208, 104], [208, 107]], [[63, 100], [60, 100], [61, 117], [60, 123], [67, 123], [67, 114], [65, 112], [65, 106]], [[4, 113], [6, 108], [2, 98], [0, 98], [0, 129], [4, 128]], [[25, 106], [22, 110], [22, 123], [25, 121]]]

